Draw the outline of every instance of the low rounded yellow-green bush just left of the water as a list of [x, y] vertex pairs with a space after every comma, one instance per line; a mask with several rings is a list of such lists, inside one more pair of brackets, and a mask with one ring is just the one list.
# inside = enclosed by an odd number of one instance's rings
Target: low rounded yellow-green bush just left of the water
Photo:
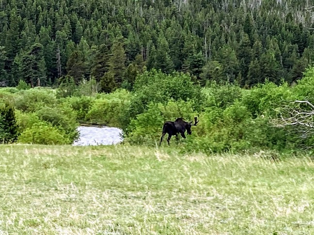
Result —
[[39, 145], [64, 145], [71, 144], [65, 132], [53, 127], [52, 124], [41, 121], [27, 128], [18, 138], [18, 143]]

